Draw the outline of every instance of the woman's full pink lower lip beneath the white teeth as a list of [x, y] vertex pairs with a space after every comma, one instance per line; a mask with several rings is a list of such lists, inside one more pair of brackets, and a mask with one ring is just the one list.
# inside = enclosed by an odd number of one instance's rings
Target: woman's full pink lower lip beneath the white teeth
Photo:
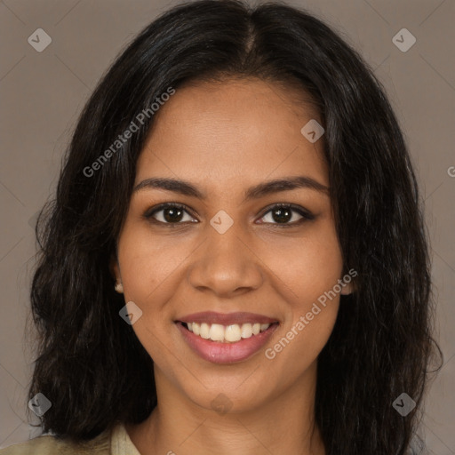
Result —
[[271, 324], [267, 331], [261, 331], [247, 339], [235, 343], [220, 343], [211, 339], [201, 338], [192, 331], [188, 331], [182, 323], [176, 323], [180, 333], [197, 355], [212, 363], [235, 363], [248, 359], [263, 347], [272, 333], [278, 327], [277, 323]]

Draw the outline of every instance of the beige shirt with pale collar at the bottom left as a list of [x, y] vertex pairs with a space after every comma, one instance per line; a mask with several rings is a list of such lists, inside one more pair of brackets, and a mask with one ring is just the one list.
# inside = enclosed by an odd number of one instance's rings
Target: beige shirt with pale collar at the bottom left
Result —
[[26, 443], [0, 450], [0, 455], [140, 455], [124, 425], [105, 431], [83, 446], [59, 441], [52, 435], [38, 436]]

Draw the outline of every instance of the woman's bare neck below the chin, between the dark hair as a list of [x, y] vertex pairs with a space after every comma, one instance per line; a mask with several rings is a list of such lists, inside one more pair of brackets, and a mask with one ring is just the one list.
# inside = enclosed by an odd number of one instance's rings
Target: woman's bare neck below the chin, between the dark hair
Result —
[[126, 429], [141, 455], [212, 455], [214, 448], [218, 455], [325, 455], [314, 419], [315, 368], [306, 371], [299, 386], [267, 403], [227, 413], [202, 408], [169, 383], [159, 387], [161, 381], [156, 381], [161, 392], [156, 409]]

